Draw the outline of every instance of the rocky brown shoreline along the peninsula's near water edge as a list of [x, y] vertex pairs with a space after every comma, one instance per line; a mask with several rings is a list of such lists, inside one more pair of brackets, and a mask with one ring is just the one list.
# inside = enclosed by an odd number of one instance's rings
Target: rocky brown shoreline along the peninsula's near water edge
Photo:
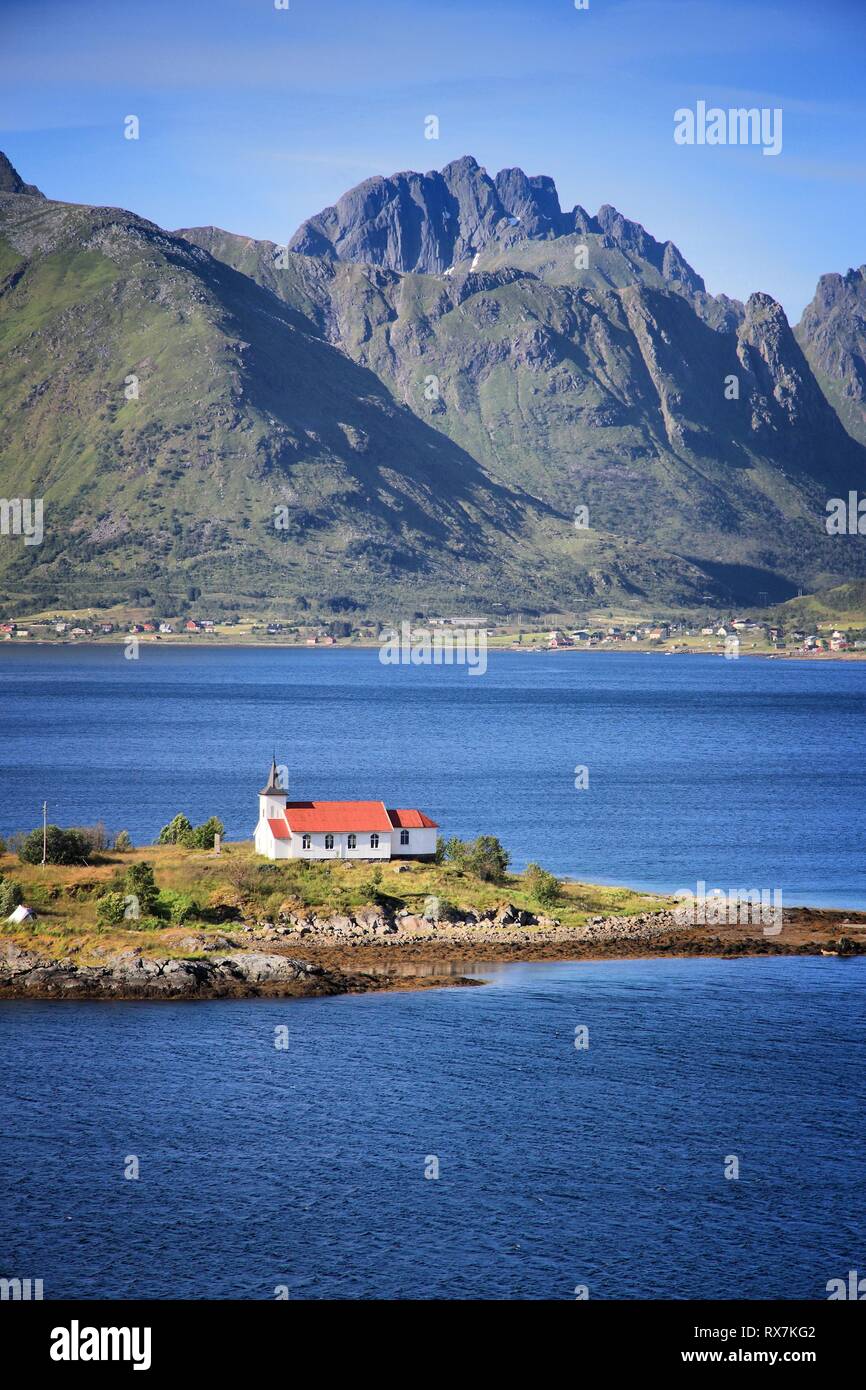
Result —
[[[664, 920], [656, 924], [652, 917]], [[631, 933], [620, 920], [595, 935], [577, 929], [545, 929], [531, 935], [506, 931], [499, 941], [471, 929], [443, 929], [375, 942], [341, 941], [334, 931], [304, 931], [291, 944], [282, 935], [277, 945], [271, 935], [254, 933], [250, 951], [225, 952], [214, 944], [209, 952], [152, 958], [135, 948], [99, 965], [78, 965], [68, 956], [46, 958], [14, 941], [0, 941], [0, 1002], [322, 998], [475, 987], [488, 983], [478, 972], [502, 965], [866, 955], [866, 913], [792, 909], [785, 912], [778, 937], [756, 935], [752, 924], [684, 929], [671, 927], [669, 919], [669, 913], [646, 915], [641, 930]], [[227, 944], [235, 947], [234, 941]]]

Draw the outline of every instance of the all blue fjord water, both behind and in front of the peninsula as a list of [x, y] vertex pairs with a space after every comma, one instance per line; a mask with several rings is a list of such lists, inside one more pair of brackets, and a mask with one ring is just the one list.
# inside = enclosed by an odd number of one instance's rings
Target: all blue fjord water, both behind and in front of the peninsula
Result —
[[[179, 809], [245, 837], [275, 748], [295, 796], [420, 805], [517, 863], [866, 902], [863, 666], [7, 646], [0, 706], [3, 831], [47, 798], [139, 842]], [[3, 1005], [0, 1273], [46, 1298], [823, 1298], [866, 1268], [865, 960], [477, 973]]]

